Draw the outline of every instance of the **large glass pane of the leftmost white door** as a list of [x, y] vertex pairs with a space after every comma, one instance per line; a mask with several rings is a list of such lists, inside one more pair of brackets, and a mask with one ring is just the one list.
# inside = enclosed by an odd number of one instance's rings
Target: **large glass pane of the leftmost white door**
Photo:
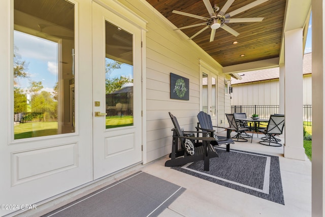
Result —
[[75, 6], [14, 0], [14, 138], [75, 132]]

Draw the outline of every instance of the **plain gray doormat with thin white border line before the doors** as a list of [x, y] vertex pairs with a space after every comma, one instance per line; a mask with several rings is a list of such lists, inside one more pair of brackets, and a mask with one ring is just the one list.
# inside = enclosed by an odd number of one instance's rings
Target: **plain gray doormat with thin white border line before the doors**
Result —
[[184, 191], [140, 171], [43, 216], [157, 216]]

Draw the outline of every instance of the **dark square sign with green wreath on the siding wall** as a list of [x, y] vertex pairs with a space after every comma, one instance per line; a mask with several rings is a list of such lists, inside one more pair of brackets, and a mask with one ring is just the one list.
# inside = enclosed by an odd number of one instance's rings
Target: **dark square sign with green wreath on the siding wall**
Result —
[[188, 78], [171, 73], [171, 99], [189, 100]]

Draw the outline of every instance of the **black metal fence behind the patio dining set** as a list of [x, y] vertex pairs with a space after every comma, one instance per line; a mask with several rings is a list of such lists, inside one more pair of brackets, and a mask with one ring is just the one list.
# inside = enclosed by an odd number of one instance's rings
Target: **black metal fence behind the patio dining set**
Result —
[[[303, 105], [304, 126], [312, 126], [312, 106]], [[260, 118], [269, 119], [271, 114], [279, 113], [278, 105], [232, 106], [232, 113], [246, 113], [247, 117], [258, 114]]]

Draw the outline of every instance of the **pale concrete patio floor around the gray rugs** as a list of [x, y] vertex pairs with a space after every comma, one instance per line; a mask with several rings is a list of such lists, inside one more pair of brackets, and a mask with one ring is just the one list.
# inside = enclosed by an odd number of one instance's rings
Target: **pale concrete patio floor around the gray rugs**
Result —
[[[284, 139], [281, 139], [282, 143]], [[250, 141], [235, 142], [235, 144], [231, 145], [231, 149], [279, 156], [285, 205], [226, 188], [222, 185], [176, 171], [170, 167], [165, 167], [165, 162], [169, 159], [166, 156], [146, 165], [138, 165], [117, 173], [96, 182], [95, 186], [89, 185], [84, 190], [80, 189], [72, 192], [68, 197], [59, 197], [52, 202], [38, 206], [37, 210], [23, 212], [16, 216], [39, 216], [45, 214], [140, 170], [186, 189], [182, 195], [159, 215], [160, 217], [311, 216], [311, 162], [307, 156], [305, 161], [287, 159], [283, 157], [283, 147], [265, 146], [259, 144], [258, 141], [260, 139], [254, 134], [252, 143]]]

